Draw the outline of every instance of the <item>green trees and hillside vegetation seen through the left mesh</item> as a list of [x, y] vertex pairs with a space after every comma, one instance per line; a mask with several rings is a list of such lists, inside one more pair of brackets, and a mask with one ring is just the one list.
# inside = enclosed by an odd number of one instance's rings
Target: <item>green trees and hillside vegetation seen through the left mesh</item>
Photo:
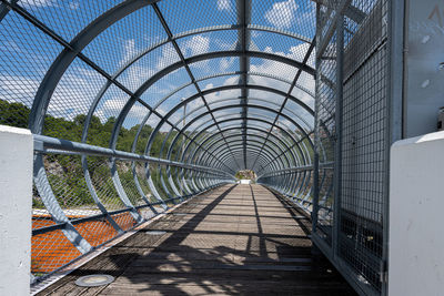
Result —
[[[0, 124], [11, 125], [17, 127], [28, 127], [28, 119], [30, 109], [21, 103], [13, 103], [0, 100]], [[87, 115], [79, 114], [72, 121], [63, 118], [54, 118], [47, 115], [44, 119], [43, 134], [58, 139], [64, 139], [74, 142], [81, 142], [81, 135]], [[108, 147], [112, 134], [112, 129], [115, 123], [115, 118], [109, 118], [105, 122], [101, 122], [98, 116], [92, 116], [89, 125], [87, 143], [91, 145]], [[117, 149], [130, 152], [140, 125], [134, 125], [130, 129], [122, 127], [117, 141]], [[134, 152], [143, 154], [148, 139], [150, 137], [153, 127], [144, 125], [142, 127], [140, 140], [137, 143]], [[176, 132], [172, 132], [167, 139], [165, 146], [169, 147]], [[161, 151], [162, 143], [167, 137], [167, 133], [158, 133], [154, 137], [150, 155], [154, 157], [165, 157], [165, 151]], [[173, 147], [172, 155], [180, 151], [182, 140]], [[78, 155], [49, 154], [44, 156], [48, 178], [51, 183], [53, 193], [60, 205], [64, 208], [72, 206], [83, 206], [93, 204], [93, 200], [89, 193], [87, 182], [83, 175], [81, 157]], [[143, 165], [143, 164], [142, 164]], [[119, 166], [119, 163], [118, 163]], [[114, 188], [108, 157], [88, 157], [88, 169], [98, 195], [100, 198], [105, 198], [109, 203], [117, 203], [119, 197]], [[154, 167], [153, 167], [154, 169]], [[155, 167], [157, 169], [157, 167]], [[131, 167], [118, 167], [120, 178], [125, 187], [125, 191], [137, 192], [133, 182]], [[159, 192], [163, 193], [160, 185], [158, 170], [150, 170], [151, 176], [158, 186]], [[162, 170], [162, 174], [164, 170]], [[141, 182], [142, 188], [149, 193], [148, 186]], [[135, 196], [135, 194], [133, 194]], [[43, 203], [39, 197], [37, 190], [33, 194], [33, 206], [42, 208]], [[163, 196], [167, 197], [167, 196]], [[130, 197], [131, 198], [131, 197]]]

